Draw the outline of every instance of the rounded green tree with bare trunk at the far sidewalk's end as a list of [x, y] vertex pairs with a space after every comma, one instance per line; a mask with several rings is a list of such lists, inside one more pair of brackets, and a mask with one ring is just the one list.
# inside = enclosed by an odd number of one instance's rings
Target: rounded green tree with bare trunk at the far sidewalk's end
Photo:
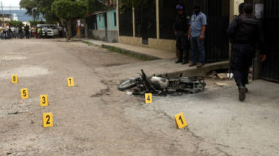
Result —
[[88, 10], [88, 0], [56, 0], [52, 3], [52, 12], [67, 23], [68, 40], [72, 37], [72, 21], [85, 17]]

